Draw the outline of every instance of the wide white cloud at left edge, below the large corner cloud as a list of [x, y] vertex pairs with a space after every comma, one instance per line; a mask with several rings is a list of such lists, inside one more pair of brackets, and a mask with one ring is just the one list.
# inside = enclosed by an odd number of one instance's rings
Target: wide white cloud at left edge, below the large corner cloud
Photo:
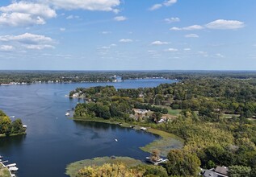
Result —
[[9, 43], [7, 45], [15, 45], [27, 49], [42, 50], [44, 48], [54, 48], [55, 41], [50, 37], [44, 35], [35, 35], [31, 33], [24, 33], [23, 35], [1, 35], [0, 42]]

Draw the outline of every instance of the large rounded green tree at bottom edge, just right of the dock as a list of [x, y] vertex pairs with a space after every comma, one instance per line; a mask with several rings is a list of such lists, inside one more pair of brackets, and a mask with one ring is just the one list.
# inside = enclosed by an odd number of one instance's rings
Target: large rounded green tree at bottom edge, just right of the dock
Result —
[[170, 150], [166, 170], [168, 175], [196, 176], [199, 173], [200, 160], [195, 154], [185, 150]]

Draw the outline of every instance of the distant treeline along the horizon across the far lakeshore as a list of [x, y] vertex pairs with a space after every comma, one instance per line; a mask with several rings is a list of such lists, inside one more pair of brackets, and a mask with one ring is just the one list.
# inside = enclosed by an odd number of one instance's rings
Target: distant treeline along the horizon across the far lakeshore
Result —
[[217, 78], [256, 78], [256, 72], [243, 71], [0, 71], [0, 84], [43, 82], [111, 82], [114, 76], [122, 80], [138, 78], [191, 79], [204, 77]]

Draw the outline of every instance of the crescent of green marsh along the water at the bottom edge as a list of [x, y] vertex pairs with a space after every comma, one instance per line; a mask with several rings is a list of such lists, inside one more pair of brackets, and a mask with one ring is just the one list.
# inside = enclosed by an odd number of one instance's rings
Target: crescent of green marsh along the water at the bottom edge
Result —
[[[124, 163], [127, 167], [135, 167], [139, 164], [142, 164], [140, 160], [136, 160], [134, 158], [129, 157], [102, 157], [102, 158], [92, 158], [92, 159], [86, 159], [82, 161], [78, 161], [75, 163], [70, 163], [66, 167], [65, 174], [69, 175], [70, 177], [75, 177], [76, 174], [80, 169], [86, 166], [101, 166], [104, 163], [111, 163], [111, 164], [118, 164], [118, 163]], [[1, 175], [0, 175], [1, 176]]]

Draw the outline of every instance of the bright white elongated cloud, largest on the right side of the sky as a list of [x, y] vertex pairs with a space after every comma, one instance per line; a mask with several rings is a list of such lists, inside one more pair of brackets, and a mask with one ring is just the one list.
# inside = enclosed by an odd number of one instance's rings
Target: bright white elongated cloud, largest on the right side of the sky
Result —
[[245, 27], [245, 23], [237, 20], [217, 19], [211, 23], [206, 24], [205, 27], [216, 30], [232, 30]]

